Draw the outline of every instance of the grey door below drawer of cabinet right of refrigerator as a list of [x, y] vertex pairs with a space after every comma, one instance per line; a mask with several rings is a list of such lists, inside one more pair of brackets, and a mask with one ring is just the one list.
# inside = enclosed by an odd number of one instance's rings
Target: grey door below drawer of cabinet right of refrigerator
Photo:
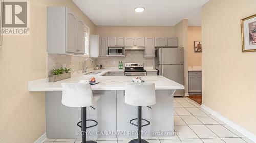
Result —
[[202, 92], [202, 76], [188, 76], [188, 92]]

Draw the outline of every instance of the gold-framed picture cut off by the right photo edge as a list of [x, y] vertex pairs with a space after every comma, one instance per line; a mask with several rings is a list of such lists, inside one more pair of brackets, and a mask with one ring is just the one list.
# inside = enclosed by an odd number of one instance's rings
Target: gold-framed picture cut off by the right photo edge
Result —
[[256, 14], [241, 19], [242, 52], [256, 51]]

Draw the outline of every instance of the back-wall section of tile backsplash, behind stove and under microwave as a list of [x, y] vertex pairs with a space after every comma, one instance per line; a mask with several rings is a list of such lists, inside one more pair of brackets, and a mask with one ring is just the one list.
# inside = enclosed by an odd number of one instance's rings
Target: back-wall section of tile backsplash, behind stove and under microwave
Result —
[[96, 65], [103, 67], [118, 67], [118, 62], [144, 63], [144, 67], [154, 67], [154, 58], [144, 58], [144, 51], [125, 51], [125, 57], [97, 58]]

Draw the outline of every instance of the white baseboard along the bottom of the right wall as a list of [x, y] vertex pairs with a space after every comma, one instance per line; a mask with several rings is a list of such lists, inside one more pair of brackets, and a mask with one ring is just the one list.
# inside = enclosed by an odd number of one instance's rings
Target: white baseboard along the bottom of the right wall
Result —
[[229, 119], [225, 118], [224, 116], [220, 115], [218, 112], [212, 110], [211, 108], [205, 106], [204, 104], [201, 105], [201, 108], [209, 112], [211, 115], [215, 116], [216, 118], [220, 119], [222, 122], [227, 124], [228, 126], [232, 127], [233, 129], [237, 130], [239, 133], [247, 137], [253, 142], [256, 142], [256, 136], [251, 132], [247, 131], [243, 127], [239, 126], [238, 124], [230, 121]]

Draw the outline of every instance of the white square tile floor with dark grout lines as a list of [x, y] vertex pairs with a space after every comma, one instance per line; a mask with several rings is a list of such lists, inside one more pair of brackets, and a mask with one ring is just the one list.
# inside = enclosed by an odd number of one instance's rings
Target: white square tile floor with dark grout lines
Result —
[[[146, 138], [150, 143], [253, 143], [202, 109], [191, 99], [174, 99], [174, 130], [178, 136]], [[97, 139], [98, 143], [128, 143], [125, 139]], [[80, 143], [81, 139], [47, 139], [45, 143]]]

